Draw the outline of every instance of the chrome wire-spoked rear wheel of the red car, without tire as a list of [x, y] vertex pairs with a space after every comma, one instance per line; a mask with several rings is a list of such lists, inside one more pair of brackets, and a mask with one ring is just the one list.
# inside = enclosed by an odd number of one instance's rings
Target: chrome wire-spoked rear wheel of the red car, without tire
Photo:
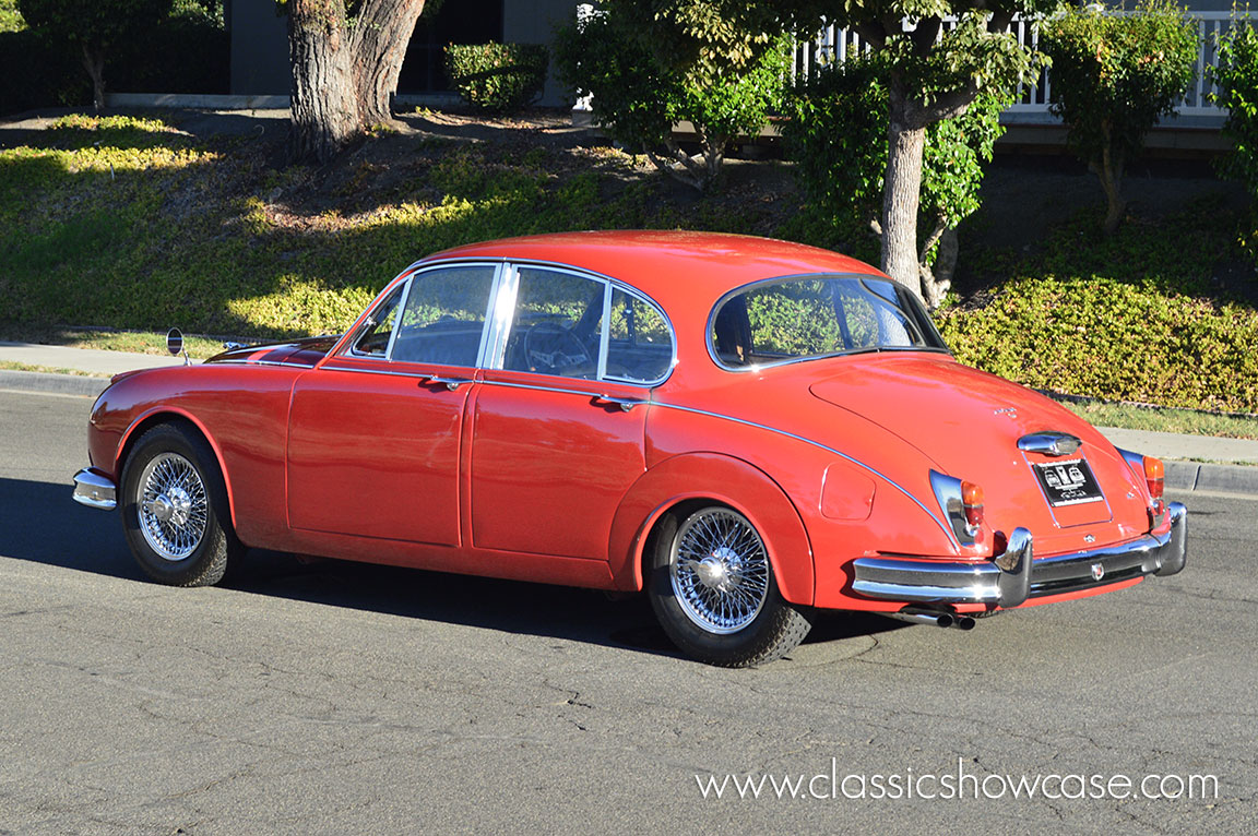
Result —
[[746, 517], [704, 508], [677, 529], [669, 577], [691, 621], [706, 632], [730, 635], [755, 621], [769, 597], [769, 553]]

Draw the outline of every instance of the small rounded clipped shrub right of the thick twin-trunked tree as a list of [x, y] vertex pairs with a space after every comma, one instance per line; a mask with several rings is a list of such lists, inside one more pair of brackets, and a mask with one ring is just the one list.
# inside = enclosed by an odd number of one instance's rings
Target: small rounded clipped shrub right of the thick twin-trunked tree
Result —
[[450, 44], [445, 74], [463, 101], [506, 113], [527, 107], [546, 83], [550, 54], [540, 44]]

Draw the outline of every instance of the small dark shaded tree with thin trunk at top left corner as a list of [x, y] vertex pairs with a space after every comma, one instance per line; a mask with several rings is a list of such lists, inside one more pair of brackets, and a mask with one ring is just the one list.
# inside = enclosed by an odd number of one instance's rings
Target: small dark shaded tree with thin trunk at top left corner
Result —
[[26, 25], [49, 41], [74, 44], [92, 77], [96, 109], [104, 107], [104, 59], [170, 14], [174, 0], [18, 0]]

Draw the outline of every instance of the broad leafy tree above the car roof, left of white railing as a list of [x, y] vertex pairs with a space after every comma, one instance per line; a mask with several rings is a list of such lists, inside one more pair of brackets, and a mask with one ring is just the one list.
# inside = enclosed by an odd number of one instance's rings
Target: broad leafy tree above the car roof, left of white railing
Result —
[[[561, 78], [593, 96], [595, 118], [615, 140], [640, 148], [660, 171], [706, 189], [730, 141], [764, 127], [789, 69], [789, 36], [755, 4], [603, 5], [604, 11], [560, 30]], [[674, 138], [678, 122], [694, 126], [698, 155]]]

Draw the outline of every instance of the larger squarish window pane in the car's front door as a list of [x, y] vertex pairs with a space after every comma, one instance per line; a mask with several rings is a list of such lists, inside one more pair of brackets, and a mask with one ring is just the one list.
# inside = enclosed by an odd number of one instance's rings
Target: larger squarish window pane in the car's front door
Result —
[[452, 267], [416, 273], [391, 360], [476, 366], [494, 268]]

